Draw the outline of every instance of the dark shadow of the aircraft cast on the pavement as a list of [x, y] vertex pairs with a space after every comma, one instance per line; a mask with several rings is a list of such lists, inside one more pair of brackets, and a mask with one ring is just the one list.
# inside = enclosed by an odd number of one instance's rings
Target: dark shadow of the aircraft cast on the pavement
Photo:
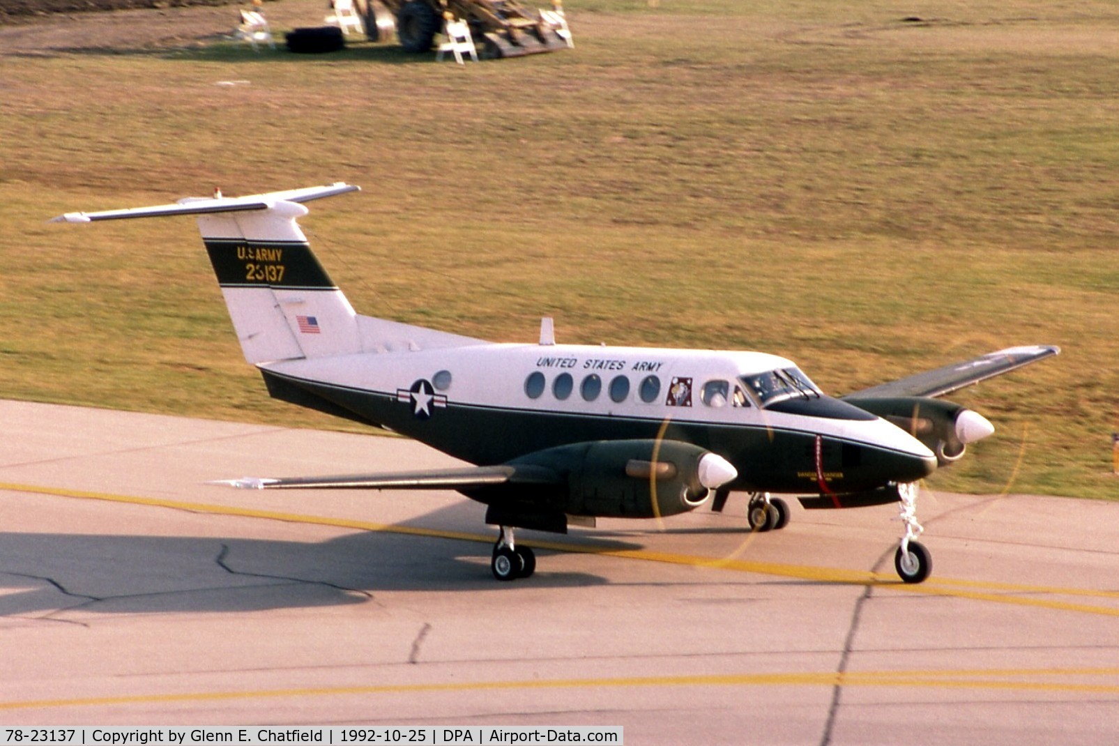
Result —
[[[472, 507], [472, 506], [467, 506]], [[454, 506], [402, 527], [485, 536], [473, 512]], [[590, 532], [525, 531], [523, 540], [572, 544], [586, 553], [641, 545]], [[574, 548], [577, 546], [579, 548]], [[82, 613], [250, 612], [368, 601], [379, 591], [489, 591], [517, 584], [490, 575], [483, 541], [356, 531], [327, 541], [235, 536], [0, 533], [0, 617]], [[544, 587], [603, 585], [608, 578], [551, 570], [552, 553], [530, 580]]]

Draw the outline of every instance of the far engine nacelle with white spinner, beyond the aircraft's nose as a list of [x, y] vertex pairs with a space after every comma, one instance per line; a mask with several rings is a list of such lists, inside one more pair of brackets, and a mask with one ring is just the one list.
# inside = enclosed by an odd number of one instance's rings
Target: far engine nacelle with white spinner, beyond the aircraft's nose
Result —
[[937, 462], [944, 466], [959, 461], [968, 443], [975, 443], [995, 432], [986, 417], [959, 404], [922, 396], [887, 398], [844, 398], [859, 409], [865, 409], [921, 441], [937, 454]]

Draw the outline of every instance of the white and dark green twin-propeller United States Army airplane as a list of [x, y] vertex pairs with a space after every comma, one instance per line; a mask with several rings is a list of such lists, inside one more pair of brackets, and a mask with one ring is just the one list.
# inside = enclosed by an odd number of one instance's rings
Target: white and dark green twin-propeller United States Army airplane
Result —
[[564, 533], [599, 517], [655, 518], [731, 491], [751, 493], [751, 529], [782, 528], [791, 493], [806, 508], [901, 503], [895, 567], [931, 572], [916, 541], [916, 483], [990, 435], [991, 424], [937, 399], [1056, 355], [1014, 347], [845, 397], [791, 360], [762, 352], [495, 343], [357, 314], [298, 225], [303, 202], [346, 183], [175, 205], [69, 213], [56, 221], [197, 216], [241, 340], [269, 393], [414, 437], [473, 466], [385, 474], [244, 479], [256, 489], [453, 489], [499, 527], [490, 567], [528, 577], [515, 529]]

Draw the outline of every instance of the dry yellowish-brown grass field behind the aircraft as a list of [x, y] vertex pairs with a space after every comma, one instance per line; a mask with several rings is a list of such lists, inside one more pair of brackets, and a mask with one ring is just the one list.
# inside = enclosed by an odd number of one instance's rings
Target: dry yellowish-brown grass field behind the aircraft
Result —
[[464, 68], [0, 51], [0, 396], [339, 426], [267, 398], [192, 221], [45, 221], [347, 180], [304, 225], [363, 313], [761, 349], [836, 394], [1060, 344], [952, 397], [998, 431], [931, 487], [1119, 495], [1119, 6], [566, 8], [574, 50]]

